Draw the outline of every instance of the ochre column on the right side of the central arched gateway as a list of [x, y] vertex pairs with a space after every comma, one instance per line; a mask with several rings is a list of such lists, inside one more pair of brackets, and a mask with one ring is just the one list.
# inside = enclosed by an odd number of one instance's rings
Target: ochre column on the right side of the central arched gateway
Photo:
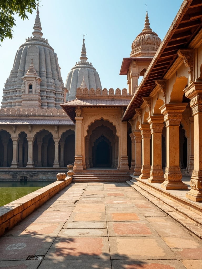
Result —
[[127, 121], [121, 122], [121, 160], [120, 170], [129, 170], [127, 156]]

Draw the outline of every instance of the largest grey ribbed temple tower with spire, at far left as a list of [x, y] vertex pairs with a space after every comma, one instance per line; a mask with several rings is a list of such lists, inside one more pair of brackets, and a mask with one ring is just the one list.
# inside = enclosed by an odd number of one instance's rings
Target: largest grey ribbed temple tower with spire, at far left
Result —
[[62, 82], [57, 54], [48, 44], [48, 40], [42, 37], [39, 7], [36, 13], [33, 37], [28, 37], [20, 46], [15, 56], [13, 69], [6, 80], [2, 107], [22, 105], [22, 95], [25, 92], [25, 82], [22, 77], [29, 70], [31, 59], [33, 59], [37, 76], [41, 79], [39, 89], [41, 107], [60, 108], [60, 104], [65, 101], [66, 89]]

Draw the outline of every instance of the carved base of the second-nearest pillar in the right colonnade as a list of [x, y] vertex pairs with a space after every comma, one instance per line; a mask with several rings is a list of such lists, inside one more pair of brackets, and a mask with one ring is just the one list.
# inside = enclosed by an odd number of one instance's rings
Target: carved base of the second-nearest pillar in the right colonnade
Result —
[[161, 184], [164, 190], [187, 190], [187, 185], [184, 184], [180, 167], [166, 167], [164, 174], [165, 181]]

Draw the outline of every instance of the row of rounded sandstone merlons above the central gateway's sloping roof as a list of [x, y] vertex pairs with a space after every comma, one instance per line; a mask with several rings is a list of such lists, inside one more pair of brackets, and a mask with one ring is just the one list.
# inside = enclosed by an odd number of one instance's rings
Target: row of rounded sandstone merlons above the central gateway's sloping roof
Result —
[[124, 88], [122, 91], [118, 88], [116, 89], [115, 91], [115, 94], [114, 94], [114, 89], [110, 88], [109, 91], [105, 88], [103, 90], [101, 89], [93, 89], [91, 88], [90, 90], [88, 90], [87, 88], [85, 89], [81, 89], [81, 88], [78, 88], [76, 89], [76, 97], [83, 97], [83, 96], [86, 96], [86, 97], [92, 97], [92, 96], [127, 96], [128, 95], [128, 91], [126, 88]]

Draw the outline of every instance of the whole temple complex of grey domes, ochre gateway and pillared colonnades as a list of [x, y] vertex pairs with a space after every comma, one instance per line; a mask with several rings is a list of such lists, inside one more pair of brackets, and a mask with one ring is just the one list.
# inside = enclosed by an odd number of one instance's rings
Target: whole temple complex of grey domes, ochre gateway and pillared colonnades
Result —
[[87, 61], [84, 34], [80, 61], [64, 87], [37, 8], [33, 36], [17, 51], [5, 83], [0, 174], [9, 169], [18, 177], [20, 167], [30, 177], [37, 169], [50, 176], [74, 163], [78, 173], [121, 170], [144, 184], [160, 183], [162, 190], [186, 190], [187, 175], [186, 198], [202, 201], [201, 14], [200, 1], [184, 0], [161, 42], [147, 12], [121, 65], [128, 90], [107, 90]]

